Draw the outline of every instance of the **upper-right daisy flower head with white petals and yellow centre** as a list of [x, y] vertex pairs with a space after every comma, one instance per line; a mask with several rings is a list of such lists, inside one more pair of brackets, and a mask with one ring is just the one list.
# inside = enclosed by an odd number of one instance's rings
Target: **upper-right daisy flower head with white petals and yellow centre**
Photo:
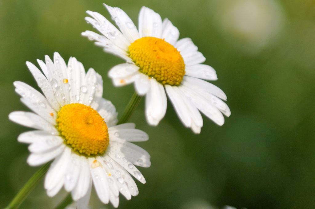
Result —
[[[104, 16], [87, 11], [86, 17], [102, 35], [85, 31], [83, 36], [95, 40], [105, 52], [115, 54], [127, 63], [113, 67], [108, 75], [115, 86], [135, 83], [138, 95], [146, 95], [146, 119], [157, 125], [167, 107], [166, 94], [181, 122], [194, 133], [200, 133], [203, 119], [199, 111], [218, 125], [230, 116], [225, 93], [204, 80], [217, 80], [215, 70], [205, 61], [190, 38], [179, 38], [179, 30], [171, 21], [152, 9], [142, 7], [139, 13], [139, 31], [120, 8], [104, 4], [120, 31]], [[201, 80], [204, 79], [204, 80]], [[198, 111], [199, 110], [199, 111]]]

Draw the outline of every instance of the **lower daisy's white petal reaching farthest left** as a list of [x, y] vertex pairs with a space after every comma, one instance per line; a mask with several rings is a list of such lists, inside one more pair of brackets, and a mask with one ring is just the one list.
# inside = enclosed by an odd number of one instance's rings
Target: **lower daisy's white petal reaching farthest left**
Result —
[[16, 111], [9, 114], [9, 119], [26, 127], [47, 131], [52, 135], [59, 135], [53, 125], [34, 113]]

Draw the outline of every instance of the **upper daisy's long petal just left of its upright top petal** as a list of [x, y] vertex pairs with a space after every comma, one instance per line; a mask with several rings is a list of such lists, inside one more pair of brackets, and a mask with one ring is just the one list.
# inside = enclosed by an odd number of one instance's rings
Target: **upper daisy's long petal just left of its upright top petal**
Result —
[[112, 18], [115, 21], [116, 25], [119, 27], [120, 31], [130, 43], [133, 43], [135, 40], [140, 38], [135, 24], [122, 9], [117, 7], [110, 7], [106, 4], [104, 4], [104, 6], [112, 15]]

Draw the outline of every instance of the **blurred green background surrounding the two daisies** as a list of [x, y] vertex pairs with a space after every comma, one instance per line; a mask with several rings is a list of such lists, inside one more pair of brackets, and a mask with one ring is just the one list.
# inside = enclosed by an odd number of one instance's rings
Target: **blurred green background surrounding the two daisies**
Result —
[[[38, 170], [27, 165], [29, 130], [8, 120], [28, 109], [14, 92], [20, 80], [36, 86], [25, 62], [59, 52], [76, 57], [104, 79], [104, 97], [122, 113], [133, 85], [114, 88], [108, 70], [123, 60], [80, 34], [94, 30], [86, 10], [110, 15], [94, 0], [0, 1], [0, 208]], [[137, 25], [144, 5], [168, 18], [180, 38], [190, 37], [217, 71], [212, 82], [227, 95], [232, 115], [222, 127], [203, 117], [201, 134], [180, 123], [173, 107], [157, 127], [147, 125], [144, 99], [130, 119], [150, 139], [139, 145], [152, 166], [139, 168], [146, 184], [119, 208], [315, 208], [315, 1], [314, 0], [107, 0]], [[95, 30], [94, 30], [95, 31]], [[37, 65], [38, 66], [38, 65]], [[119, 116], [118, 116], [119, 117]], [[54, 208], [43, 181], [20, 208]], [[92, 194], [92, 208], [112, 208]]]

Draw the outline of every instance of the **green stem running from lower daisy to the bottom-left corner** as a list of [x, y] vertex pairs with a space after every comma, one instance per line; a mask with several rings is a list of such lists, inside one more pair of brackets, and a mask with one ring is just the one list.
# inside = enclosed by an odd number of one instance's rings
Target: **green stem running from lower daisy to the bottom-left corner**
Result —
[[18, 208], [25, 198], [31, 193], [35, 186], [42, 180], [45, 173], [48, 171], [51, 162], [47, 162], [26, 182], [22, 189], [15, 195], [14, 199], [4, 209], [16, 209]]

